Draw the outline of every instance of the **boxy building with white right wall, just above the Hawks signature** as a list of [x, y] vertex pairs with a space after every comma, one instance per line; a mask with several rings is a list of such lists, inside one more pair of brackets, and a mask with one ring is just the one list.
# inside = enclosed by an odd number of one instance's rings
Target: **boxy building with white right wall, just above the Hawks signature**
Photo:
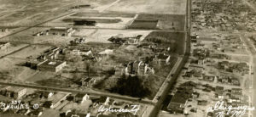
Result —
[[20, 97], [23, 97], [26, 94], [26, 88], [8, 86], [4, 89], [4, 92], [7, 97], [14, 97], [15, 99], [20, 99]]

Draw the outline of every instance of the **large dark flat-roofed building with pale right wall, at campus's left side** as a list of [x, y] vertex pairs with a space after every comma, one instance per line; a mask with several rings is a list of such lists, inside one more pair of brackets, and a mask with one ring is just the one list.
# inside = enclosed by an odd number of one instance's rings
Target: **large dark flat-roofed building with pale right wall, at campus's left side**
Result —
[[66, 65], [66, 61], [51, 61], [46, 59], [37, 65], [37, 69], [42, 71], [58, 72], [62, 70]]

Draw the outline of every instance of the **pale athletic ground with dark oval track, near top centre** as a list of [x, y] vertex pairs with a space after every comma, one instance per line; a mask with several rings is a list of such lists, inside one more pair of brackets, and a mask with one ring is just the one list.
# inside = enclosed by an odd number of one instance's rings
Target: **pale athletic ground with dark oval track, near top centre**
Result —
[[[73, 26], [74, 28], [112, 28], [125, 29], [125, 26], [131, 22], [135, 14], [107, 14], [97, 12], [79, 12], [77, 14], [67, 15], [66, 17], [50, 21], [44, 26]], [[96, 25], [74, 25], [73, 20], [96, 21]]]

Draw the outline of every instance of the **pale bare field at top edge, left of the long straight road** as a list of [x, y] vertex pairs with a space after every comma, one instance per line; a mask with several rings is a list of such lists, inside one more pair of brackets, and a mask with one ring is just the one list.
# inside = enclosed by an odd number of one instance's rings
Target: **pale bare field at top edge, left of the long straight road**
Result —
[[108, 11], [150, 14], [185, 14], [186, 0], [120, 0]]

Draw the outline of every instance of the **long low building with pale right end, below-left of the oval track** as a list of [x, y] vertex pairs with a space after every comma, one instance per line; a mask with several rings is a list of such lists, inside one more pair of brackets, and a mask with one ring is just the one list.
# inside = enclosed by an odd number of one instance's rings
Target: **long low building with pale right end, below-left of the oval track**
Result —
[[67, 28], [67, 27], [55, 27], [49, 29], [49, 34], [52, 35], [59, 35], [59, 36], [72, 36], [72, 34], [75, 32], [73, 28]]

